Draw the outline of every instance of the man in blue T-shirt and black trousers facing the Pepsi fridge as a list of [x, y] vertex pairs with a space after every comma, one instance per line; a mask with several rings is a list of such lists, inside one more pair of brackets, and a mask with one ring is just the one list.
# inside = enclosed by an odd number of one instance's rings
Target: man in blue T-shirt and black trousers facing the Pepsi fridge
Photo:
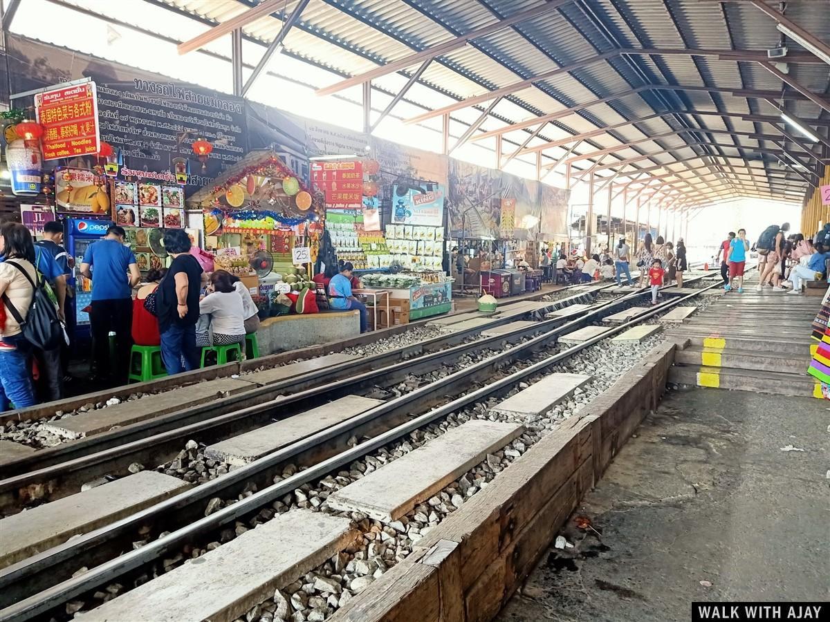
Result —
[[[125, 237], [122, 227], [110, 226], [106, 236], [87, 247], [81, 261], [81, 275], [92, 279], [90, 325], [95, 374], [117, 384], [126, 380], [132, 342], [132, 288], [141, 280], [135, 255], [124, 245]], [[115, 332], [115, 371], [109, 363], [110, 331]]]

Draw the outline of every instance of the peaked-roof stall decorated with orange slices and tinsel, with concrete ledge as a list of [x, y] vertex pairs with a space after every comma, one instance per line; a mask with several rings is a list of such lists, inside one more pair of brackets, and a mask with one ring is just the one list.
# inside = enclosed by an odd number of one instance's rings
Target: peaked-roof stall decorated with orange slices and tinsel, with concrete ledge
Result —
[[[325, 292], [311, 279], [324, 231], [323, 197], [276, 153], [249, 153], [189, 197], [188, 207], [203, 212], [205, 247], [216, 268], [238, 276], [254, 296], [262, 354], [319, 343], [323, 327], [329, 341], [359, 334], [354, 313], [328, 310]], [[338, 242], [350, 245], [347, 237]]]

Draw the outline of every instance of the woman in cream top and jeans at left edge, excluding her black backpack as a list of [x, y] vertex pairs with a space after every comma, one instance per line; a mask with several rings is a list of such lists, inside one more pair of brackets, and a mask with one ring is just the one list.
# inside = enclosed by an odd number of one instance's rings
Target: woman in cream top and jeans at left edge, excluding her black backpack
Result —
[[[28, 357], [32, 345], [23, 337], [16, 316], [26, 318], [37, 278], [35, 245], [29, 230], [16, 222], [0, 226], [0, 296], [5, 312], [5, 323], [0, 326], [0, 412], [9, 402], [15, 408], [34, 406], [35, 391], [29, 370]], [[27, 278], [27, 276], [29, 278]]]

